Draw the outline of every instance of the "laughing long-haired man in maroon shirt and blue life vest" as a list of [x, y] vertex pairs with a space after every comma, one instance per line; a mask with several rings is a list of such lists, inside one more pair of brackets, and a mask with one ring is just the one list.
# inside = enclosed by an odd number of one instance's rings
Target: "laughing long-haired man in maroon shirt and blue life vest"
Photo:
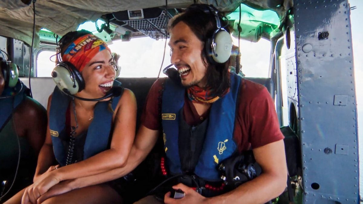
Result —
[[[227, 25], [221, 16], [216, 20], [214, 10], [205, 4], [192, 5], [171, 19], [171, 63], [180, 78], [159, 79], [151, 87], [126, 166], [60, 184], [43, 197], [126, 175], [146, 158], [161, 133], [166, 152], [162, 173], [191, 175], [205, 184], [202, 195], [180, 180], [172, 188], [185, 193], [182, 199], [172, 199], [168, 192], [164, 200], [147, 196], [137, 203], [265, 203], [284, 191], [284, 137], [273, 100], [264, 86], [229, 73], [228, 62], [216, 63], [219, 58], [208, 52], [208, 38], [217, 24]], [[218, 186], [210, 187], [222, 183], [217, 171], [222, 161], [251, 148], [262, 168], [260, 176], [236, 189], [217, 192]]]

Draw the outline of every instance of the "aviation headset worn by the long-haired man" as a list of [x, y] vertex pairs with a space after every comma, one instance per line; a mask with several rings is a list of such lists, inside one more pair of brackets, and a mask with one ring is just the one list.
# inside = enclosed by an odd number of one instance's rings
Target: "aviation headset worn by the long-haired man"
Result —
[[187, 8], [187, 11], [191, 9], [199, 9], [204, 13], [214, 15], [217, 29], [213, 32], [213, 36], [205, 42], [205, 53], [207, 54], [209, 62], [212, 64], [227, 62], [231, 56], [232, 37], [224, 29], [225, 26], [221, 25], [220, 19], [223, 16], [220, 15], [219, 11], [213, 5], [192, 4]]

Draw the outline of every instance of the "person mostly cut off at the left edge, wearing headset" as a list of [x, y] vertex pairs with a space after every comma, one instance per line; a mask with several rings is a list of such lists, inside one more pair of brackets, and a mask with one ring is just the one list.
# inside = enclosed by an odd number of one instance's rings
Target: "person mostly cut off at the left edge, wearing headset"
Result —
[[[27, 91], [27, 87], [18, 79], [16, 65], [0, 58], [0, 181], [2, 182], [0, 194], [2, 196], [8, 192], [10, 186], [12, 188], [7, 197], [32, 183], [37, 156], [45, 139], [46, 111], [38, 102], [27, 96]], [[18, 164], [19, 148], [21, 153]], [[17, 178], [12, 185], [17, 168]]]

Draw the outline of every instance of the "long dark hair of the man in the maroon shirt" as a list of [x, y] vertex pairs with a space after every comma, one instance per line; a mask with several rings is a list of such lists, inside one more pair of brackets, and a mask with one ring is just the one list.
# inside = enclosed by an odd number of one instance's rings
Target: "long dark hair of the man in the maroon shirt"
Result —
[[[214, 8], [214, 7], [213, 7]], [[197, 36], [197, 38], [204, 42], [204, 50], [207, 45], [208, 38], [212, 38], [213, 33], [217, 30], [217, 23], [215, 15], [210, 12], [205, 12], [209, 9], [207, 4], [193, 4], [189, 6], [185, 12], [174, 16], [168, 25], [168, 29], [174, 28], [174, 26], [181, 21], [189, 26], [192, 32]], [[217, 9], [214, 8], [216, 11]], [[221, 26], [225, 26], [224, 29], [229, 32], [228, 23], [222, 16], [219, 15]], [[229, 61], [221, 64], [213, 64], [208, 59], [208, 53], [202, 50], [201, 58], [203, 59], [204, 65], [207, 67], [207, 73], [205, 77], [207, 78], [207, 87], [211, 88], [212, 96], [221, 96], [230, 87], [231, 80], [229, 78], [228, 66]]]

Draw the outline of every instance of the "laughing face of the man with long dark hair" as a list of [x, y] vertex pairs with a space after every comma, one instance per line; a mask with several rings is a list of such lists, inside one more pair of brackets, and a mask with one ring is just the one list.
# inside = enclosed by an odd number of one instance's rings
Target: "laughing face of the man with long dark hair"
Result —
[[201, 53], [204, 42], [200, 41], [187, 24], [179, 22], [170, 30], [171, 63], [175, 64], [185, 87], [197, 85], [204, 87], [207, 67]]

